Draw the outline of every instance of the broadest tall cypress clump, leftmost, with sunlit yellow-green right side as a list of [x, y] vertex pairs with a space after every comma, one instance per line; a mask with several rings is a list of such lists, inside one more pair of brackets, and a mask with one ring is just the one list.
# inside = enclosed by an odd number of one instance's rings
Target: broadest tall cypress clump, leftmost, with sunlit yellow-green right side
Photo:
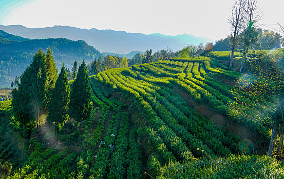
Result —
[[[41, 115], [47, 113], [50, 93], [57, 78], [51, 51], [48, 50], [47, 55], [42, 50], [37, 52], [22, 74], [18, 89], [13, 91], [14, 115], [26, 128], [31, 129], [34, 123], [41, 125]], [[25, 118], [21, 119], [21, 116]]]

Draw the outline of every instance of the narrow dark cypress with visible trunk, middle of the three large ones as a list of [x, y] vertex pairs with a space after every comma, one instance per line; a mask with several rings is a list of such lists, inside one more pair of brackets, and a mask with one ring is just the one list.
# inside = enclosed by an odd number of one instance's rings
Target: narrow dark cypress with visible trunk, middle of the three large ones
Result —
[[[54, 144], [58, 145], [58, 133], [64, 126], [65, 121], [68, 120], [68, 104], [70, 93], [70, 86], [65, 71], [64, 64], [62, 65], [61, 72], [55, 83], [52, 92], [51, 100], [49, 103], [48, 120], [54, 125]], [[56, 138], [57, 132], [57, 138]]]

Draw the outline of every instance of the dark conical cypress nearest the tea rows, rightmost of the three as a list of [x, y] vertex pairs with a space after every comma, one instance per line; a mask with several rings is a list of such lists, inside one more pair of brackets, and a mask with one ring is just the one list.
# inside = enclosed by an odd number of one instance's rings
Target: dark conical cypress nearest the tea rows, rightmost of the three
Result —
[[90, 79], [86, 63], [79, 66], [77, 78], [74, 80], [70, 92], [69, 115], [78, 124], [90, 117], [92, 109]]

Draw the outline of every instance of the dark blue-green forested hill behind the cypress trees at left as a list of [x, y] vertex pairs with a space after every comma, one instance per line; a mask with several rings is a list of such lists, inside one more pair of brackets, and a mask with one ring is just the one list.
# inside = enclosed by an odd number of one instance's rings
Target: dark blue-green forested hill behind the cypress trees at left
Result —
[[67, 68], [71, 68], [75, 60], [84, 59], [90, 62], [101, 56], [98, 50], [83, 40], [73, 41], [66, 38], [30, 40], [5, 32], [2, 34], [0, 37], [0, 86], [10, 86], [15, 76], [21, 76], [34, 53], [39, 49], [49, 48], [58, 68], [62, 63]]

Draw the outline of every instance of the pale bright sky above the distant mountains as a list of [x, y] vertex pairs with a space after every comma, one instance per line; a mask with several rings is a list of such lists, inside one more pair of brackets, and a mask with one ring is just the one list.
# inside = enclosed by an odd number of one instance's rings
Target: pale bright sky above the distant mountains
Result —
[[[262, 28], [284, 25], [284, 1], [259, 0]], [[0, 24], [29, 28], [73, 26], [165, 35], [193, 34], [213, 41], [230, 34], [233, 0], [0, 0]], [[274, 25], [274, 26], [271, 26]]]

